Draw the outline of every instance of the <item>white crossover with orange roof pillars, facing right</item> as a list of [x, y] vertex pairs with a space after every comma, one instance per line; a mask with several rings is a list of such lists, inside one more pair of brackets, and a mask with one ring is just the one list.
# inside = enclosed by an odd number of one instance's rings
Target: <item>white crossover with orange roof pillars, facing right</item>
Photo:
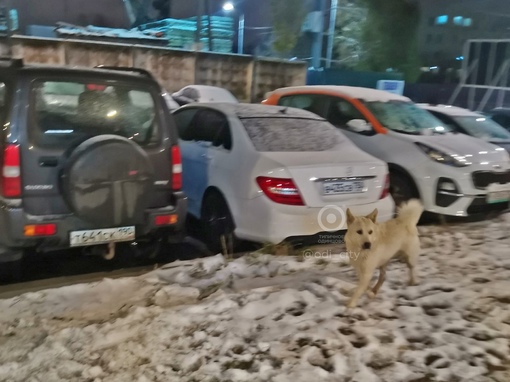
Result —
[[325, 117], [361, 149], [387, 162], [397, 204], [419, 197], [426, 211], [453, 216], [508, 207], [505, 149], [453, 134], [407, 97], [359, 87], [301, 86], [275, 90], [263, 103]]

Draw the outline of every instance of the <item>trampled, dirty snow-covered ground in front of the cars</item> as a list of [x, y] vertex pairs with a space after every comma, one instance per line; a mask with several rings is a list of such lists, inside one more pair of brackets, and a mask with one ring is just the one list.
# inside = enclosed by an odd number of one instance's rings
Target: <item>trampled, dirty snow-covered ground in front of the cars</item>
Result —
[[0, 300], [0, 381], [508, 382], [509, 227], [421, 227], [420, 284], [392, 263], [352, 311], [341, 246]]

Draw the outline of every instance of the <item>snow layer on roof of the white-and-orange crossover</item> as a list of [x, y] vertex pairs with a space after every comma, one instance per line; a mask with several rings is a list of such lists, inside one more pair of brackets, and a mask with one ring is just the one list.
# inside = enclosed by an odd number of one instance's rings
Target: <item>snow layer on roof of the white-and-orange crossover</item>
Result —
[[362, 88], [357, 86], [337, 86], [337, 85], [309, 85], [309, 86], [291, 86], [286, 88], [280, 88], [274, 91], [274, 93], [289, 93], [289, 92], [331, 92], [338, 93], [351, 98], [362, 99], [367, 102], [388, 102], [388, 101], [411, 101], [409, 98], [390, 93], [384, 90], [377, 90], [371, 88]]

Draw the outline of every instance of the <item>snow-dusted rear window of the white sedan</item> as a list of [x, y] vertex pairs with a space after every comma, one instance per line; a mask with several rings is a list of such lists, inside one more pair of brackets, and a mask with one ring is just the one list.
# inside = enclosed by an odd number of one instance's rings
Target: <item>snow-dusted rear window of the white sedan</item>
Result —
[[253, 117], [241, 121], [260, 152], [327, 151], [343, 140], [337, 128], [316, 119]]

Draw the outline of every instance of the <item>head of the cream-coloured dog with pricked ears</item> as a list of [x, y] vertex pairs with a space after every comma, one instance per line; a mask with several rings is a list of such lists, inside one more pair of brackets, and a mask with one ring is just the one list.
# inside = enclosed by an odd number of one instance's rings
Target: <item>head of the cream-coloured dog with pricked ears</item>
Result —
[[347, 209], [345, 243], [349, 251], [368, 251], [377, 239], [377, 209], [367, 216], [354, 216]]

